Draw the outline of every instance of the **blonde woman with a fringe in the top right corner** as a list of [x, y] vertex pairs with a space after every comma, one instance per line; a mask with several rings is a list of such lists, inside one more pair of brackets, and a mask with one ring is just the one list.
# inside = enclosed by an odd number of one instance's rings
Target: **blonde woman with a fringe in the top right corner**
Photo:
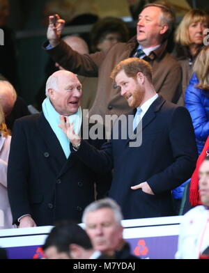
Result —
[[173, 56], [180, 62], [183, 68], [183, 94], [178, 102], [184, 105], [185, 90], [192, 77], [192, 68], [197, 54], [199, 54], [203, 46], [205, 29], [208, 29], [209, 18], [203, 10], [193, 9], [185, 14], [183, 20], [176, 29], [174, 40], [176, 47], [173, 50]]

